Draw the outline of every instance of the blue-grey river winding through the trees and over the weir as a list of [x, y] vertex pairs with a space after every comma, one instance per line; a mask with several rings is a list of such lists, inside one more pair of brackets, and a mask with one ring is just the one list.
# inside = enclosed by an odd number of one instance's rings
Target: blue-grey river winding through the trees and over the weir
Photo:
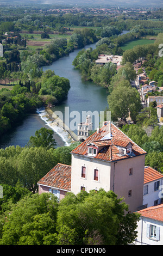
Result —
[[[127, 33], [126, 31], [123, 33]], [[85, 48], [95, 48], [96, 44], [85, 46]], [[68, 108], [70, 114], [73, 114], [73, 111], [79, 113], [80, 118], [78, 118], [76, 124], [82, 120], [83, 111], [90, 112], [100, 112], [104, 111], [108, 106], [106, 89], [89, 81], [82, 81], [80, 76], [80, 71], [74, 69], [72, 62], [77, 56], [80, 50], [75, 50], [69, 54], [69, 56], [62, 57], [57, 61], [53, 62], [52, 65], [44, 66], [43, 71], [47, 69], [54, 70], [55, 75], [60, 77], [65, 77], [70, 80], [71, 89], [68, 92], [67, 99], [62, 102], [59, 106], [52, 108], [53, 111], [60, 111], [63, 116], [65, 114], [65, 107]], [[51, 120], [48, 120], [44, 117], [45, 109], [40, 108], [36, 113], [29, 114], [27, 118], [23, 119], [20, 124], [18, 124], [10, 132], [7, 132], [3, 138], [0, 140], [0, 147], [6, 148], [10, 145], [20, 145], [24, 147], [30, 136], [35, 135], [35, 131], [41, 129], [41, 127], [47, 127], [52, 129], [50, 123]], [[73, 116], [73, 115], [72, 115]], [[69, 118], [69, 117], [68, 117]], [[77, 119], [76, 115], [70, 117], [70, 123], [74, 119]], [[93, 121], [93, 120], [92, 120]], [[93, 129], [96, 128], [93, 126]], [[54, 138], [57, 142], [57, 147], [62, 147], [71, 143], [70, 136], [68, 133], [62, 130], [60, 127], [55, 127]], [[77, 130], [74, 130], [77, 133]]]

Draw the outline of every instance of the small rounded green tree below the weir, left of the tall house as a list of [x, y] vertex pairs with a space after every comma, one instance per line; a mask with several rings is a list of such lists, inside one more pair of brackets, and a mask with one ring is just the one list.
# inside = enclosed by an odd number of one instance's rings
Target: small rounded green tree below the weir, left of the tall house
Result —
[[35, 132], [35, 136], [29, 138], [28, 145], [30, 147], [42, 147], [46, 149], [54, 148], [56, 144], [55, 139], [53, 138], [53, 130], [46, 129], [42, 127], [40, 130]]

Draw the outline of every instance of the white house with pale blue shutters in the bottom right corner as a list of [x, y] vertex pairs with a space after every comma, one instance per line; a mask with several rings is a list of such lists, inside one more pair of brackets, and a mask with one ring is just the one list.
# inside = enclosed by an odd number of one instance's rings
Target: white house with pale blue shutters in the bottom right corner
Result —
[[135, 245], [163, 244], [163, 204], [137, 211], [140, 221], [137, 222]]

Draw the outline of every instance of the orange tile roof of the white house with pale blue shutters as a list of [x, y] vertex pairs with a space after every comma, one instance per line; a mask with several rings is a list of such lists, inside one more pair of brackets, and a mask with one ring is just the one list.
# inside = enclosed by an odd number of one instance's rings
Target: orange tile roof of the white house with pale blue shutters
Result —
[[152, 218], [156, 221], [163, 221], [163, 204], [148, 207], [146, 209], [137, 211], [143, 217]]

